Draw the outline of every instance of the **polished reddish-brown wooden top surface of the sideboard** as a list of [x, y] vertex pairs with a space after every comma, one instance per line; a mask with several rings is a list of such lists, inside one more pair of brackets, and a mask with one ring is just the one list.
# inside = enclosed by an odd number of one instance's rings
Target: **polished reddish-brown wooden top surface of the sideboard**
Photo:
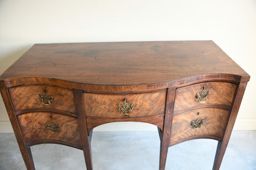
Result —
[[249, 75], [212, 41], [35, 44], [2, 75], [93, 85], [146, 85], [198, 75]]

